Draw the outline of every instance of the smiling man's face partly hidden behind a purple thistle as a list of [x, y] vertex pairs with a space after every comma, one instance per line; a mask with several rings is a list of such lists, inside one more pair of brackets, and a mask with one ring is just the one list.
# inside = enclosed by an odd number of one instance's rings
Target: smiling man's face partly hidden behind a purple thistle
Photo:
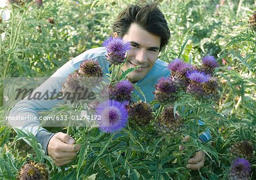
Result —
[[138, 82], [147, 75], [158, 58], [160, 49], [160, 37], [142, 29], [136, 23], [132, 23], [123, 40], [129, 41], [131, 50], [127, 53], [127, 61], [122, 66], [126, 71], [131, 67], [141, 66], [130, 72], [128, 79], [131, 82]]

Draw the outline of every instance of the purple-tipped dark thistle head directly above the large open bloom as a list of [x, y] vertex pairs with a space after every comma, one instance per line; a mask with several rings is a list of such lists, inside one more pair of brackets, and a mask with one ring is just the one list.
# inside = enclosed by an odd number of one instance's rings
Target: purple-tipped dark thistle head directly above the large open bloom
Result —
[[114, 87], [110, 86], [110, 98], [123, 102], [131, 100], [131, 92], [134, 90], [133, 84], [129, 80], [121, 80]]

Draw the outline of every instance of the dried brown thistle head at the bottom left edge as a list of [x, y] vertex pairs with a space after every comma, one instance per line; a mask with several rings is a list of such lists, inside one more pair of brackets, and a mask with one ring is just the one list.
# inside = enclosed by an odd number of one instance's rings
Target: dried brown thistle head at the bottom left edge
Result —
[[48, 180], [49, 172], [44, 164], [30, 162], [23, 165], [19, 172], [20, 180]]

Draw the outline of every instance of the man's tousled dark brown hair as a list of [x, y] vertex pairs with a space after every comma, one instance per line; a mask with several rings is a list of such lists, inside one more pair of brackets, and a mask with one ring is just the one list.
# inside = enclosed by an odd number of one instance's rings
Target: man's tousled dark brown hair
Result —
[[170, 39], [170, 29], [157, 4], [127, 6], [115, 19], [113, 32], [117, 32], [119, 37], [123, 37], [128, 32], [131, 23], [137, 23], [147, 32], [159, 36], [161, 38], [160, 50]]

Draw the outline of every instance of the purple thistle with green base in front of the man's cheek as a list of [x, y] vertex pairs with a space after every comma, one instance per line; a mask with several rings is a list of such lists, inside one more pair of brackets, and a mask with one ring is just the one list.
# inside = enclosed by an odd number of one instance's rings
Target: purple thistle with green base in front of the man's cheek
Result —
[[112, 65], [123, 63], [126, 52], [131, 49], [130, 42], [123, 41], [122, 38], [109, 37], [102, 44], [107, 49], [107, 60]]

